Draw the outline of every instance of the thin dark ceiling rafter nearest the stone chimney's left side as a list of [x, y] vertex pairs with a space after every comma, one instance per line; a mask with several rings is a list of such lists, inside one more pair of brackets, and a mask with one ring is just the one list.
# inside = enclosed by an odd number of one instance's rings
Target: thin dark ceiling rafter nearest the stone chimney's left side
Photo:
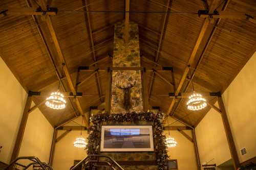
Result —
[[[94, 62], [96, 62], [97, 61], [97, 57], [96, 57], [96, 54], [95, 54], [95, 46], [94, 46], [94, 42], [93, 42], [92, 27], [91, 27], [90, 15], [89, 15], [89, 12], [88, 12], [87, 1], [86, 0], [82, 0], [82, 5], [85, 6], [83, 8], [86, 11], [86, 13], [84, 13], [84, 18], [86, 20], [87, 30], [88, 30], [88, 33], [90, 35], [90, 41], [91, 41], [92, 52], [93, 52], [93, 60], [94, 60]], [[98, 89], [98, 94], [99, 94], [100, 102], [103, 102], [98, 71], [96, 71], [95, 80], [96, 80], [96, 84], [97, 84], [97, 89]]]

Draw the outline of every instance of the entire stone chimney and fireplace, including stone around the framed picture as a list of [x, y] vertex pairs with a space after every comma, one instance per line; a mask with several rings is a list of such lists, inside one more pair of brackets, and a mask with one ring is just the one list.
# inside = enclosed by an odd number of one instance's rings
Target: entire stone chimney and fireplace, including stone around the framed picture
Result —
[[[130, 22], [129, 42], [125, 43], [124, 35], [124, 21], [115, 24], [114, 33], [114, 55], [113, 67], [140, 67], [140, 50], [139, 50], [139, 30], [136, 23]], [[131, 89], [131, 105], [129, 110], [125, 110], [123, 103], [123, 90], [116, 87], [117, 83], [125, 85], [133, 84], [135, 86]], [[111, 114], [119, 114], [126, 112], [140, 112], [143, 110], [142, 93], [141, 93], [141, 72], [133, 70], [113, 70], [112, 72], [112, 100], [111, 100]], [[113, 125], [116, 123], [105, 122], [103, 125]], [[120, 123], [118, 125], [152, 125], [152, 123]], [[155, 152], [102, 152], [101, 154], [109, 155], [116, 161], [148, 161], [156, 160]], [[143, 169], [155, 170], [157, 165], [123, 165], [125, 170]], [[103, 168], [100, 168], [103, 169]], [[105, 168], [110, 169], [110, 168]]]

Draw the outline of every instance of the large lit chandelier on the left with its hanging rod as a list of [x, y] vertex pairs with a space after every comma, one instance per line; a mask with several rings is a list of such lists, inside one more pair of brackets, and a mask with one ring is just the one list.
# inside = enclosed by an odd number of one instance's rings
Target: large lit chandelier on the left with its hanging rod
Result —
[[51, 109], [55, 109], [55, 110], [66, 108], [66, 100], [64, 99], [64, 95], [59, 92], [59, 86], [60, 86], [60, 82], [61, 82], [61, 78], [62, 78], [62, 72], [63, 72], [64, 65], [65, 65], [65, 63], [62, 63], [61, 77], [59, 80], [58, 90], [55, 92], [52, 92], [51, 95], [46, 99], [46, 106]]

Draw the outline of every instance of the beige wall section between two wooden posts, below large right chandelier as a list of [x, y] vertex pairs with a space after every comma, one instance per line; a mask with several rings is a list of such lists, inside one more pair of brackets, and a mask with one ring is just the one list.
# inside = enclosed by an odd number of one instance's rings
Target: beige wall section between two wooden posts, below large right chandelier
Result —
[[196, 137], [201, 164], [211, 160], [209, 164], [220, 165], [231, 158], [220, 113], [210, 109], [196, 127]]

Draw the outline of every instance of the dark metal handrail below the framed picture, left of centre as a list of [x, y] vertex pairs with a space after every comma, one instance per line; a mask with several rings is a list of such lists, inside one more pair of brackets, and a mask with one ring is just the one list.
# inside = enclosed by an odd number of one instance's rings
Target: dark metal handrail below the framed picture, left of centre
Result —
[[[96, 160], [92, 159], [92, 160], [88, 160], [91, 157], [97, 157]], [[99, 158], [108, 158], [112, 163], [108, 162], [108, 161], [100, 161]], [[83, 162], [85, 162], [86, 164], [90, 163], [90, 162], [95, 162], [95, 163], [106, 163], [108, 164], [112, 169], [115, 170], [115, 168], [113, 167], [113, 164], [116, 165], [120, 170], [124, 170], [112, 157], [108, 156], [108, 155], [88, 155], [87, 157], [83, 158], [80, 162], [78, 162], [74, 167], [72, 167], [70, 170], [75, 170], [79, 165], [81, 165]]]

